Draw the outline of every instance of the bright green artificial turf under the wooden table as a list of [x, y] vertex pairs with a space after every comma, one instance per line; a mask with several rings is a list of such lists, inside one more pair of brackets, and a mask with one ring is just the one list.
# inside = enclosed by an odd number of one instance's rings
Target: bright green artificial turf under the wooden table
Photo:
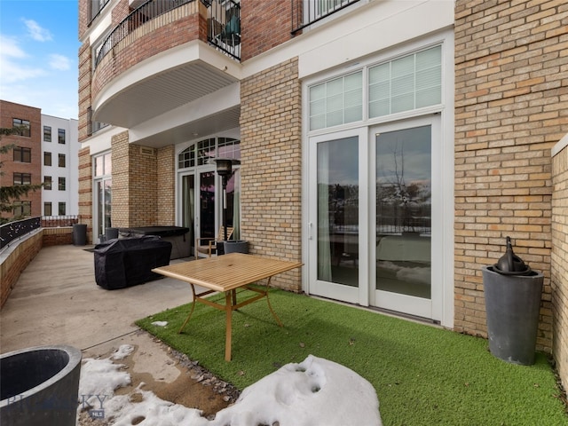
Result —
[[[373, 384], [385, 426], [568, 425], [544, 354], [517, 366], [493, 357], [485, 339], [282, 290], [270, 295], [284, 327], [264, 300], [233, 312], [231, 362], [224, 312], [198, 304], [182, 335], [191, 304], [137, 324], [241, 390], [309, 354], [335, 361]], [[168, 325], [151, 324], [158, 320]]]

